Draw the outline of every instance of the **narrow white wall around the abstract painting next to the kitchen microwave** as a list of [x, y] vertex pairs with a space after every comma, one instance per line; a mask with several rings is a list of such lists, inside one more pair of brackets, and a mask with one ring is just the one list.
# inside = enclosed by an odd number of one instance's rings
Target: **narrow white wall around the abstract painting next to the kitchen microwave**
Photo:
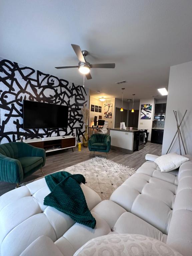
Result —
[[[151, 104], [151, 119], [140, 119], [141, 116], [141, 104]], [[138, 121], [138, 129], [148, 129], [149, 137], [148, 140], [151, 140], [151, 129], [152, 129], [152, 122], [155, 110], [155, 99], [140, 99], [140, 107], [139, 107], [139, 121]]]

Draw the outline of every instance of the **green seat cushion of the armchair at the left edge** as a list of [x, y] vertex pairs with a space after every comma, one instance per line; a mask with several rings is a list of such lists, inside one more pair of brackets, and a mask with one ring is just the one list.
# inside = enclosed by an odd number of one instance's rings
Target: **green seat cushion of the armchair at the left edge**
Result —
[[39, 156], [19, 157], [18, 160], [21, 163], [24, 174], [26, 174], [27, 172], [31, 171], [32, 169], [38, 167], [40, 164], [43, 163], [43, 158]]

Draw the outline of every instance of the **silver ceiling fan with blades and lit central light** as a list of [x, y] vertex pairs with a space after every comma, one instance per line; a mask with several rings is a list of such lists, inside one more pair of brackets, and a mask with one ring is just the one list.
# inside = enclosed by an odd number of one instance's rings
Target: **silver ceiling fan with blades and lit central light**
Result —
[[77, 58], [79, 60], [78, 66], [63, 66], [63, 67], [55, 67], [57, 69], [61, 68], [79, 68], [79, 72], [84, 74], [87, 79], [92, 79], [90, 74], [91, 68], [115, 68], [115, 63], [103, 63], [103, 64], [90, 64], [85, 60], [85, 57], [88, 55], [88, 51], [83, 50], [81, 51], [81, 48], [79, 45], [71, 44], [74, 52], [77, 55]]

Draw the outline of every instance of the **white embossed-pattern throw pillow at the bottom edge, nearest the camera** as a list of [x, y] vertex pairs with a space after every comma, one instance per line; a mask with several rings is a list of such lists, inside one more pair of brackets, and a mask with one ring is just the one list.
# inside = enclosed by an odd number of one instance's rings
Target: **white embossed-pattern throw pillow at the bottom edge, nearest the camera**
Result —
[[167, 244], [143, 235], [110, 234], [91, 239], [74, 256], [182, 256]]

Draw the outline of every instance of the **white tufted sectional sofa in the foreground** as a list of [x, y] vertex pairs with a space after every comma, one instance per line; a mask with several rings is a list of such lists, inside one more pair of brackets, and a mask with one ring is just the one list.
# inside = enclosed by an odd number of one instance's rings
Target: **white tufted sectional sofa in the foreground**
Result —
[[72, 256], [92, 238], [128, 233], [156, 238], [191, 256], [192, 161], [162, 173], [154, 163], [157, 157], [146, 155], [147, 161], [110, 200], [101, 201], [81, 185], [97, 222], [95, 229], [43, 205], [50, 193], [44, 178], [4, 194], [0, 197], [0, 255]]

